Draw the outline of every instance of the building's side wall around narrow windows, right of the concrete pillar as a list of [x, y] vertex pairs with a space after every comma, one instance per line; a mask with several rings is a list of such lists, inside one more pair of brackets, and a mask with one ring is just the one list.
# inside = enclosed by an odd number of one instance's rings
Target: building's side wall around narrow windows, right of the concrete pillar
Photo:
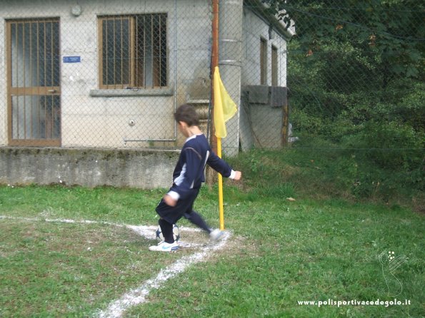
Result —
[[[245, 86], [258, 86], [260, 76], [260, 43], [267, 43], [267, 83], [271, 86], [271, 47], [278, 53], [278, 86], [286, 86], [286, 39], [275, 29], [270, 29], [251, 9], [244, 8], [243, 39], [241, 56], [241, 107], [239, 111], [239, 140], [242, 150], [254, 146], [265, 148], [281, 147], [282, 110], [264, 104], [252, 104], [244, 94]], [[268, 89], [265, 86], [266, 89]], [[266, 102], [267, 98], [266, 98]]]

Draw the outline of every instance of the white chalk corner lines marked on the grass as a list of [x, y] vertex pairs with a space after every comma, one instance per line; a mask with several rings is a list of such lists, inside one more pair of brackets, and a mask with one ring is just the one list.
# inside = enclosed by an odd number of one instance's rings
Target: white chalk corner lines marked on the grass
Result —
[[[68, 220], [68, 219], [46, 219], [39, 217], [11, 217], [0, 215], [0, 219], [9, 219], [9, 220], [23, 220], [23, 221], [46, 221], [46, 222], [62, 222], [62, 223], [81, 223], [81, 224], [105, 224], [105, 225], [114, 225], [118, 227], [126, 227], [129, 230], [133, 230], [137, 234], [146, 237], [148, 239], [154, 239], [154, 235], [152, 231], [156, 230], [157, 226], [139, 226], [139, 225], [125, 225], [125, 224], [117, 224], [111, 222], [103, 222], [103, 221], [89, 221], [89, 220]], [[199, 232], [199, 229], [195, 229], [193, 227], [180, 227], [181, 230], [190, 231], [190, 232]], [[168, 279], [175, 277], [181, 272], [184, 272], [189, 266], [194, 265], [196, 263], [202, 262], [206, 260], [206, 257], [211, 255], [212, 252], [216, 250], [220, 250], [222, 247], [226, 245], [227, 240], [231, 236], [230, 232], [226, 232], [224, 237], [217, 242], [216, 244], [210, 244], [204, 246], [204, 250], [201, 252], [196, 252], [189, 256], [181, 257], [180, 260], [174, 262], [169, 267], [166, 267], [164, 270], [161, 270], [156, 277], [146, 280], [139, 287], [135, 289], [131, 289], [129, 292], [126, 292], [120, 299], [111, 302], [109, 306], [102, 311], [96, 312], [96, 317], [99, 318], [115, 318], [121, 317], [121, 315], [130, 307], [136, 306], [138, 304], [143, 304], [146, 302], [146, 297], [152, 289], [159, 289], [164, 282]], [[194, 247], [199, 246], [198, 244], [190, 244], [186, 242], [179, 242], [179, 245], [185, 247]]]

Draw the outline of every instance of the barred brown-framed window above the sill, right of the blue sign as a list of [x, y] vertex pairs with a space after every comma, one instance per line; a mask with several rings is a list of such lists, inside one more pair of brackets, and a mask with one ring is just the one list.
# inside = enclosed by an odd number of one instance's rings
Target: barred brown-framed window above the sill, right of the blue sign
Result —
[[101, 88], [167, 86], [166, 14], [102, 16]]

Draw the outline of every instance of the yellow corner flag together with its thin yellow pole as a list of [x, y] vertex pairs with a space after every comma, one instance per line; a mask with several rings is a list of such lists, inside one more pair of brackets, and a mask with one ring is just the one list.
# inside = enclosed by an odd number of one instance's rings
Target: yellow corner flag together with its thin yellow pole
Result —
[[[217, 155], [221, 158], [221, 138], [227, 135], [226, 121], [236, 114], [237, 108], [220, 78], [218, 66], [214, 69], [214, 128], [217, 137]], [[224, 230], [223, 177], [219, 173], [220, 230]]]

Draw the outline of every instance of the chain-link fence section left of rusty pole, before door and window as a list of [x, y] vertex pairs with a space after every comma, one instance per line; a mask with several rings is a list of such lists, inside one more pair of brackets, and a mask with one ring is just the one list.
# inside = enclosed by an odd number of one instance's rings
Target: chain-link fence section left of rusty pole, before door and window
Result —
[[209, 106], [208, 1], [1, 1], [2, 145], [177, 148]]

